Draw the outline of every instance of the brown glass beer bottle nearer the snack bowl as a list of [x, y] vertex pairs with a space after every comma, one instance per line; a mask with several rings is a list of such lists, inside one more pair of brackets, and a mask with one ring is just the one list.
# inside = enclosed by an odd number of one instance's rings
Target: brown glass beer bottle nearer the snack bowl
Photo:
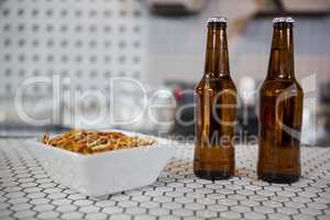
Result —
[[205, 179], [234, 175], [237, 89], [230, 77], [227, 19], [208, 19], [205, 74], [197, 85], [194, 173]]

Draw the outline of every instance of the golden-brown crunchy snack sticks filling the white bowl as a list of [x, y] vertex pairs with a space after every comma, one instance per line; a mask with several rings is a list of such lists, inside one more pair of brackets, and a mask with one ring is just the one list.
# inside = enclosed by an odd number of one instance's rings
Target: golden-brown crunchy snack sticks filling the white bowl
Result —
[[132, 148], [155, 144], [155, 140], [127, 135], [122, 132], [70, 130], [50, 139], [46, 133], [42, 143], [81, 154], [92, 154], [120, 148]]

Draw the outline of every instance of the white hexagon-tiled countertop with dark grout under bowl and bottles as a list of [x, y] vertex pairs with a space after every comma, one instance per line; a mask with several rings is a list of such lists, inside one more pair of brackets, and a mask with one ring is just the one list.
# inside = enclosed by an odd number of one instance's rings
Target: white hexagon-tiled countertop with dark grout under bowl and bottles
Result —
[[0, 219], [330, 219], [330, 148], [301, 147], [301, 180], [279, 185], [255, 178], [256, 146], [237, 146], [237, 177], [212, 183], [182, 145], [153, 185], [90, 198], [54, 183], [22, 144], [0, 140]]

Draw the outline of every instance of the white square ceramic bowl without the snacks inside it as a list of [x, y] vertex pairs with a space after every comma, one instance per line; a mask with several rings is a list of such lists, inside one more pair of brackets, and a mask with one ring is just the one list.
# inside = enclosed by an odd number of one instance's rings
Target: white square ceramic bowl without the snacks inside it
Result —
[[[120, 131], [128, 135], [148, 138]], [[55, 182], [88, 196], [102, 196], [139, 188], [155, 182], [173, 156], [169, 141], [155, 139], [151, 146], [82, 155], [26, 140], [28, 150]]]

